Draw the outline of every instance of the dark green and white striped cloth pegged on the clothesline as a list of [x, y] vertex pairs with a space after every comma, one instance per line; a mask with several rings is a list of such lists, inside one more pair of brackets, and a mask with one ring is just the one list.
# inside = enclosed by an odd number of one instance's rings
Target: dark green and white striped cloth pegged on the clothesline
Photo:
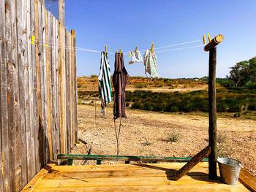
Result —
[[99, 99], [102, 101], [102, 115], [105, 115], [107, 104], [112, 101], [111, 82], [110, 82], [110, 65], [108, 62], [108, 53], [102, 52], [99, 69]]

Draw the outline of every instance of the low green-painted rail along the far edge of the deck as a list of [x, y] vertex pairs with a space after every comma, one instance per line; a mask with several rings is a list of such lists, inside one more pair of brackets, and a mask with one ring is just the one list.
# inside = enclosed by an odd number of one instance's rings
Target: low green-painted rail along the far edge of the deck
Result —
[[[68, 165], [72, 165], [73, 160], [96, 160], [97, 164], [101, 164], [101, 161], [117, 161], [117, 155], [76, 155], [76, 154], [59, 154], [58, 159], [67, 159]], [[142, 161], [142, 162], [188, 162], [191, 158], [179, 158], [179, 157], [152, 157], [152, 156], [132, 156], [132, 155], [118, 155], [118, 160], [124, 161], [125, 164], [129, 164], [130, 161]], [[204, 158], [203, 162], [208, 161], [208, 158]]]

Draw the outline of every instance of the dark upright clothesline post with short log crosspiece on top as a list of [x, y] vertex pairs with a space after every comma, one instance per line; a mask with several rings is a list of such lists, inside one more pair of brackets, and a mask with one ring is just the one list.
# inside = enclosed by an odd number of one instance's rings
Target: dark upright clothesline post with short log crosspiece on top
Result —
[[211, 153], [208, 158], [209, 179], [217, 180], [217, 107], [216, 107], [216, 46], [222, 42], [223, 36], [217, 35], [204, 47], [209, 52], [208, 101], [209, 101], [209, 146]]

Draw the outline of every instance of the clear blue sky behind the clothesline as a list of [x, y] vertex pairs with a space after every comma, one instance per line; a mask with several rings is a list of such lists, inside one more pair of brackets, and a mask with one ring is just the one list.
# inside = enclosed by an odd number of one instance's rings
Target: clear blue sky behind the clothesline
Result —
[[[217, 46], [217, 77], [238, 61], [256, 56], [255, 0], [66, 0], [66, 26], [74, 29], [77, 47], [115, 52], [146, 50], [222, 34]], [[206, 40], [208, 41], [208, 40]], [[195, 42], [178, 47], [203, 45]], [[178, 48], [177, 47], [177, 48]], [[176, 48], [176, 47], [170, 47]], [[208, 76], [203, 47], [157, 53], [160, 77]], [[109, 55], [111, 74], [114, 55]], [[124, 64], [130, 76], [143, 76], [143, 64]], [[100, 53], [77, 51], [78, 76], [99, 74]]]

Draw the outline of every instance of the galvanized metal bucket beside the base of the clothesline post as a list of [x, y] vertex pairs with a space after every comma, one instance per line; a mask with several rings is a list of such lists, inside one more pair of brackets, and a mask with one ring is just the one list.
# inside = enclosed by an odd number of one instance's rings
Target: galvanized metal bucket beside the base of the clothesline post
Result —
[[241, 162], [233, 158], [218, 158], [219, 173], [223, 183], [236, 185], [238, 182]]

